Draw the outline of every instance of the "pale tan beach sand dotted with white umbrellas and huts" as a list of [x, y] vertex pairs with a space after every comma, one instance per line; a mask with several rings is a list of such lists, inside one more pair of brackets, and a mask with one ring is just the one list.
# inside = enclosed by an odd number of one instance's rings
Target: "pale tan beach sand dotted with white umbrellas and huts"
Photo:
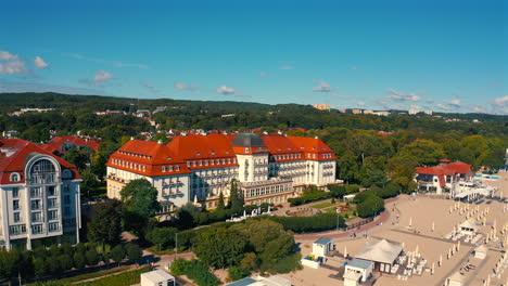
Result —
[[[499, 196], [500, 190], [504, 192], [504, 196], [508, 196], [508, 173], [498, 173], [501, 179], [484, 181], [488, 185], [497, 186], [498, 192], [495, 196]], [[491, 202], [490, 204], [486, 204]], [[454, 207], [456, 202], [449, 199], [431, 198], [426, 195], [411, 197], [408, 195], [401, 195], [397, 200], [386, 204], [386, 209], [390, 211], [389, 220], [383, 225], [376, 226], [368, 230], [368, 238], [363, 238], [361, 234], [358, 233], [356, 239], [338, 238], [335, 239], [336, 249], [340, 252], [344, 251], [344, 247], [347, 248], [347, 252], [351, 256], [358, 252], [367, 242], [378, 240], [386, 238], [395, 242], [404, 242], [404, 250], [414, 251], [418, 246], [422, 257], [428, 260], [427, 266], [431, 268], [432, 263], [435, 263], [434, 275], [423, 271], [421, 276], [412, 275], [407, 281], [399, 281], [394, 275], [382, 275], [377, 281], [376, 285], [379, 286], [396, 286], [396, 285], [442, 285], [446, 277], [452, 275], [454, 272], [460, 270], [468, 263], [474, 264], [475, 270], [463, 272], [466, 285], [482, 285], [483, 281], [491, 275], [491, 285], [501, 285], [507, 283], [508, 270], [506, 270], [499, 278], [493, 277], [493, 269], [498, 262], [501, 251], [506, 251], [499, 247], [499, 240], [497, 243], [491, 243], [487, 245], [491, 250], [487, 252], [487, 258], [484, 260], [473, 258], [471, 256], [472, 250], [475, 246], [467, 246], [463, 243], [460, 246], [460, 250], [457, 251], [449, 260], [446, 259], [448, 249], [455, 247], [457, 242], [444, 240], [444, 236], [449, 233], [455, 225], [466, 220], [467, 211], [459, 214], [459, 210], [449, 213], [449, 207]], [[460, 203], [460, 208], [466, 208], [469, 205], [470, 211], [477, 208], [474, 204]], [[504, 204], [497, 200], [485, 199], [485, 202], [479, 205], [479, 213], [488, 209], [486, 214], [486, 225], [480, 227], [480, 233], [485, 235], [493, 229], [493, 223], [496, 221], [497, 236], [504, 237], [499, 233], [500, 229], [507, 223], [508, 211], [503, 211]], [[397, 213], [399, 218], [397, 219]], [[472, 218], [477, 219], [478, 214], [473, 214]], [[411, 226], [409, 227], [409, 221]], [[482, 220], [479, 223], [483, 222]], [[432, 223], [434, 223], [434, 231], [432, 231]], [[415, 231], [417, 233], [415, 233]], [[361, 238], [359, 238], [361, 237]], [[302, 255], [306, 256], [312, 251], [312, 240], [299, 239]], [[484, 239], [481, 239], [483, 243]], [[480, 243], [478, 244], [480, 245]], [[440, 255], [443, 256], [443, 265], [437, 268], [437, 261]], [[468, 262], [469, 261], [469, 262]], [[334, 257], [329, 260], [327, 264], [340, 268], [342, 266], [343, 260]], [[291, 280], [293, 285], [299, 286], [313, 286], [313, 285], [343, 285], [343, 281], [330, 277], [335, 275], [338, 272], [334, 270], [320, 268], [318, 270], [304, 266], [303, 270], [296, 271], [290, 274], [283, 274], [282, 276]]]

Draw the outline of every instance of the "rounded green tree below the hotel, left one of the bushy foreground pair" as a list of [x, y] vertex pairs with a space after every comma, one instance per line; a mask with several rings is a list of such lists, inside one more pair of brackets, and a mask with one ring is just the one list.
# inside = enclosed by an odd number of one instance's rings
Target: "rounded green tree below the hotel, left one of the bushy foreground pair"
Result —
[[193, 250], [208, 265], [224, 269], [238, 265], [243, 258], [244, 239], [226, 227], [212, 227], [195, 237]]

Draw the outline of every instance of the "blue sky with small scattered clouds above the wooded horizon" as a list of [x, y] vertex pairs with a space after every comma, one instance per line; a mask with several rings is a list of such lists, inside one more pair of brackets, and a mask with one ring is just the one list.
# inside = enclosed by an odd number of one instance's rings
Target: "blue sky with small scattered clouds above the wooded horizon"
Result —
[[508, 114], [506, 11], [500, 0], [7, 1], [0, 92]]

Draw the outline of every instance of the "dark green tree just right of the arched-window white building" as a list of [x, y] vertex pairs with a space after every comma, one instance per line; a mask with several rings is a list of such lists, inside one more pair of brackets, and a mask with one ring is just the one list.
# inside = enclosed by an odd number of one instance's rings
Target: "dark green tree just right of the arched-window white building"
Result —
[[91, 220], [87, 224], [87, 238], [91, 243], [116, 245], [122, 234], [122, 203], [105, 199], [91, 208]]

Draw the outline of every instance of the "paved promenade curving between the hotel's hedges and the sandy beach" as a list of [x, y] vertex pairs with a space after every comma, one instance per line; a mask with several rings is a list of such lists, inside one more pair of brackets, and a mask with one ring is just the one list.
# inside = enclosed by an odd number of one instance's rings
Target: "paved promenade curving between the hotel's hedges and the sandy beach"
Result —
[[327, 236], [330, 238], [350, 238], [350, 235], [352, 233], [357, 233], [357, 237], [361, 237], [361, 233], [368, 230], [371, 230], [380, 224], [386, 223], [386, 221], [390, 219], [390, 209], [393, 207], [395, 202], [397, 202], [398, 197], [393, 197], [385, 199], [385, 207], [384, 211], [378, 216], [372, 222], [369, 222], [367, 224], [364, 224], [358, 229], [353, 229], [346, 232], [336, 232], [336, 231], [328, 231], [328, 232], [321, 232], [321, 233], [309, 233], [309, 234], [295, 234], [294, 239], [295, 240], [315, 240], [318, 239], [322, 236]]

